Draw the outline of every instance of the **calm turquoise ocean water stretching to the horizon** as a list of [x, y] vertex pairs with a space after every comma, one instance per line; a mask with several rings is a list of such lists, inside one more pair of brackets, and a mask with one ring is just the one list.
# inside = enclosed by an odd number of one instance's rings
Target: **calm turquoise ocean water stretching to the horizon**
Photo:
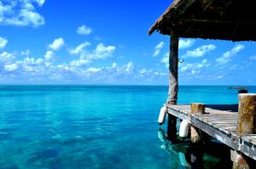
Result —
[[[0, 86], [0, 168], [184, 168], [161, 138], [168, 87]], [[249, 87], [256, 93], [256, 87]], [[179, 104], [236, 104], [229, 87], [179, 87]], [[162, 127], [166, 129], [166, 125]], [[205, 155], [204, 165], [221, 159]]]

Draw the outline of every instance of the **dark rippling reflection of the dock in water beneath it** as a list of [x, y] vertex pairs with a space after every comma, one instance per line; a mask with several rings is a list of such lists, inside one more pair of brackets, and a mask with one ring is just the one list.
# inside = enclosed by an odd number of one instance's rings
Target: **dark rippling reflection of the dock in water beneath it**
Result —
[[[158, 138], [161, 148], [166, 149], [170, 159], [178, 161], [178, 168], [231, 168], [230, 148], [216, 139], [207, 144], [191, 144], [189, 138], [170, 141], [166, 132], [160, 128]], [[210, 139], [210, 138], [209, 138]]]

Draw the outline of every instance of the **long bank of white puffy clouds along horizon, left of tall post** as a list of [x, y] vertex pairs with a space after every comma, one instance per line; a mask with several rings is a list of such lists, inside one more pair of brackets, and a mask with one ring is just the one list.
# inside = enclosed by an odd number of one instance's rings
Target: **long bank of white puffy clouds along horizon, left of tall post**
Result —
[[[55, 42], [51, 45], [58, 46]], [[113, 62], [110, 66], [93, 67], [89, 64], [94, 60], [112, 57], [115, 47], [104, 45], [102, 42], [92, 49], [86, 48], [88, 46], [90, 42], [71, 48], [68, 52], [78, 55], [79, 58], [61, 64], [53, 59], [55, 51], [50, 49], [53, 47], [49, 47], [41, 58], [32, 57], [29, 50], [13, 54], [0, 53], [0, 82], [129, 84], [136, 83], [136, 81], [151, 82], [154, 79], [166, 78], [166, 73], [160, 71], [137, 69], [133, 62], [123, 65]]]

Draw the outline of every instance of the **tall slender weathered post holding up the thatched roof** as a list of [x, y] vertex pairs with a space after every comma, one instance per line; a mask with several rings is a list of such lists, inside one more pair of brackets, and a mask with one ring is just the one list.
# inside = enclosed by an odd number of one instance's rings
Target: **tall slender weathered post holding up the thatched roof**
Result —
[[[178, 55], [178, 37], [175, 30], [171, 30], [170, 38], [170, 56], [169, 56], [169, 93], [167, 104], [177, 104], [177, 55]], [[171, 140], [177, 137], [177, 117], [168, 115], [168, 138]]]

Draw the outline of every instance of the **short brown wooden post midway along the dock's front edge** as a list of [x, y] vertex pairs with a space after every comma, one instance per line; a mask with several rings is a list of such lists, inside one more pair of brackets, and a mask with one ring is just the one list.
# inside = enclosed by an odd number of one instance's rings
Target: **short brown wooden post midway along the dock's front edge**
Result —
[[[205, 110], [206, 110], [206, 105], [205, 104], [191, 103], [191, 115], [193, 115], [193, 114], [204, 114]], [[193, 127], [192, 125], [190, 127], [190, 130], [191, 130], [191, 135], [190, 135], [191, 142], [194, 143], [194, 144], [201, 142], [200, 131], [197, 128]]]

